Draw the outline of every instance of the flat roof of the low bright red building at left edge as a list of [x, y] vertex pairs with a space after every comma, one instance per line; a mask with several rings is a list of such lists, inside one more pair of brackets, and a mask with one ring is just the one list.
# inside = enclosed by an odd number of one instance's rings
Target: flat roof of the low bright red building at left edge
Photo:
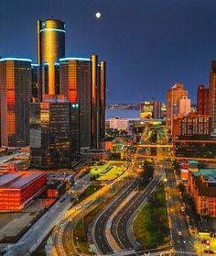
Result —
[[22, 188], [42, 175], [44, 172], [5, 173], [1, 175], [0, 188]]

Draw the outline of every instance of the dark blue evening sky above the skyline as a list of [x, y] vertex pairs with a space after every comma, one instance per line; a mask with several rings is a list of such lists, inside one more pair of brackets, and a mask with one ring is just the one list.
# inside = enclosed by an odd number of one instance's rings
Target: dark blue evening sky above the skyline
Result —
[[65, 21], [68, 57], [107, 61], [108, 103], [164, 101], [176, 82], [195, 102], [197, 85], [209, 85], [215, 0], [1, 0], [0, 13], [0, 55], [34, 61], [37, 19]]

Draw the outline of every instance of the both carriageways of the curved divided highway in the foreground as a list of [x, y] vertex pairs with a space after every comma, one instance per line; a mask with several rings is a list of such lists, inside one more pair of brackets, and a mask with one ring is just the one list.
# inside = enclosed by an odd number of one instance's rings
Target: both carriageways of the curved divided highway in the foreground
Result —
[[[133, 239], [133, 236], [131, 235], [131, 217], [134, 217], [137, 209], [144, 204], [148, 196], [155, 190], [162, 175], [162, 172], [157, 174], [150, 184], [147, 185], [146, 190], [136, 196], [136, 198], [133, 197], [129, 203], [123, 207], [123, 210], [120, 210], [116, 217], [113, 218], [111, 226], [112, 236], [122, 250], [135, 250], [135, 248], [137, 248], [135, 239]], [[119, 195], [119, 197], [113, 201], [112, 205], [108, 206], [103, 213], [96, 218], [93, 227], [93, 240], [97, 250], [101, 254], [111, 254], [114, 252], [112, 244], [109, 243], [109, 240], [106, 237], [105, 228], [117, 206], [123, 202], [124, 198], [131, 193], [136, 186], [137, 184], [134, 183], [128, 187], [122, 195]]]

